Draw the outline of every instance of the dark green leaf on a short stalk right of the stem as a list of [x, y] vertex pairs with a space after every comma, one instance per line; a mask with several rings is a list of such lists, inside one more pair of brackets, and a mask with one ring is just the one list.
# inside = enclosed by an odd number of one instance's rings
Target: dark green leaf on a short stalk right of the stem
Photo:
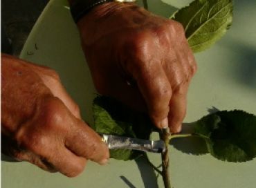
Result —
[[218, 111], [197, 121], [194, 133], [220, 160], [244, 162], [256, 157], [256, 116], [244, 111]]

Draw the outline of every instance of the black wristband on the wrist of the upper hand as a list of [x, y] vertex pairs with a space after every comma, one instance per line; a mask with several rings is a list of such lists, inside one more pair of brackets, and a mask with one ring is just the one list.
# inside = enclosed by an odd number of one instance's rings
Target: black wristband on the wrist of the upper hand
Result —
[[103, 3], [111, 2], [113, 0], [74, 0], [71, 3], [70, 10], [71, 15], [77, 23], [84, 15], [90, 12], [95, 6], [99, 6]]

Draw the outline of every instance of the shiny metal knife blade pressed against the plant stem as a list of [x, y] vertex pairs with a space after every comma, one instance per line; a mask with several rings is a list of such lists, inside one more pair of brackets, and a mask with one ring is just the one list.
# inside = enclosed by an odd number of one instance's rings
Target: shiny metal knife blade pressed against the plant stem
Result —
[[165, 143], [163, 140], [143, 140], [140, 138], [129, 138], [120, 135], [102, 134], [103, 142], [107, 144], [109, 149], [134, 149], [138, 151], [149, 151], [154, 153], [162, 153], [165, 151]]

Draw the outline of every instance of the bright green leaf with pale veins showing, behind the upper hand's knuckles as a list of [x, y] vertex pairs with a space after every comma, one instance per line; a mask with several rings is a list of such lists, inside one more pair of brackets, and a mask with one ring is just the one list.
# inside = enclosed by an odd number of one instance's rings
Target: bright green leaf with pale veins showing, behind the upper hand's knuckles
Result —
[[173, 19], [182, 23], [190, 47], [205, 50], [219, 40], [232, 23], [232, 0], [195, 0]]

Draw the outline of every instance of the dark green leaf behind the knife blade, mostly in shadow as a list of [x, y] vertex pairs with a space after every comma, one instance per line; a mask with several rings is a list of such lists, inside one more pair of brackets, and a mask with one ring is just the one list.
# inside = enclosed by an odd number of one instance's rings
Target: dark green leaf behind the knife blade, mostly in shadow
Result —
[[[110, 97], [95, 98], [93, 118], [92, 128], [98, 133], [149, 139], [153, 129], [147, 115], [133, 111]], [[127, 149], [110, 150], [111, 158], [118, 160], [131, 160], [141, 154], [142, 152]]]

